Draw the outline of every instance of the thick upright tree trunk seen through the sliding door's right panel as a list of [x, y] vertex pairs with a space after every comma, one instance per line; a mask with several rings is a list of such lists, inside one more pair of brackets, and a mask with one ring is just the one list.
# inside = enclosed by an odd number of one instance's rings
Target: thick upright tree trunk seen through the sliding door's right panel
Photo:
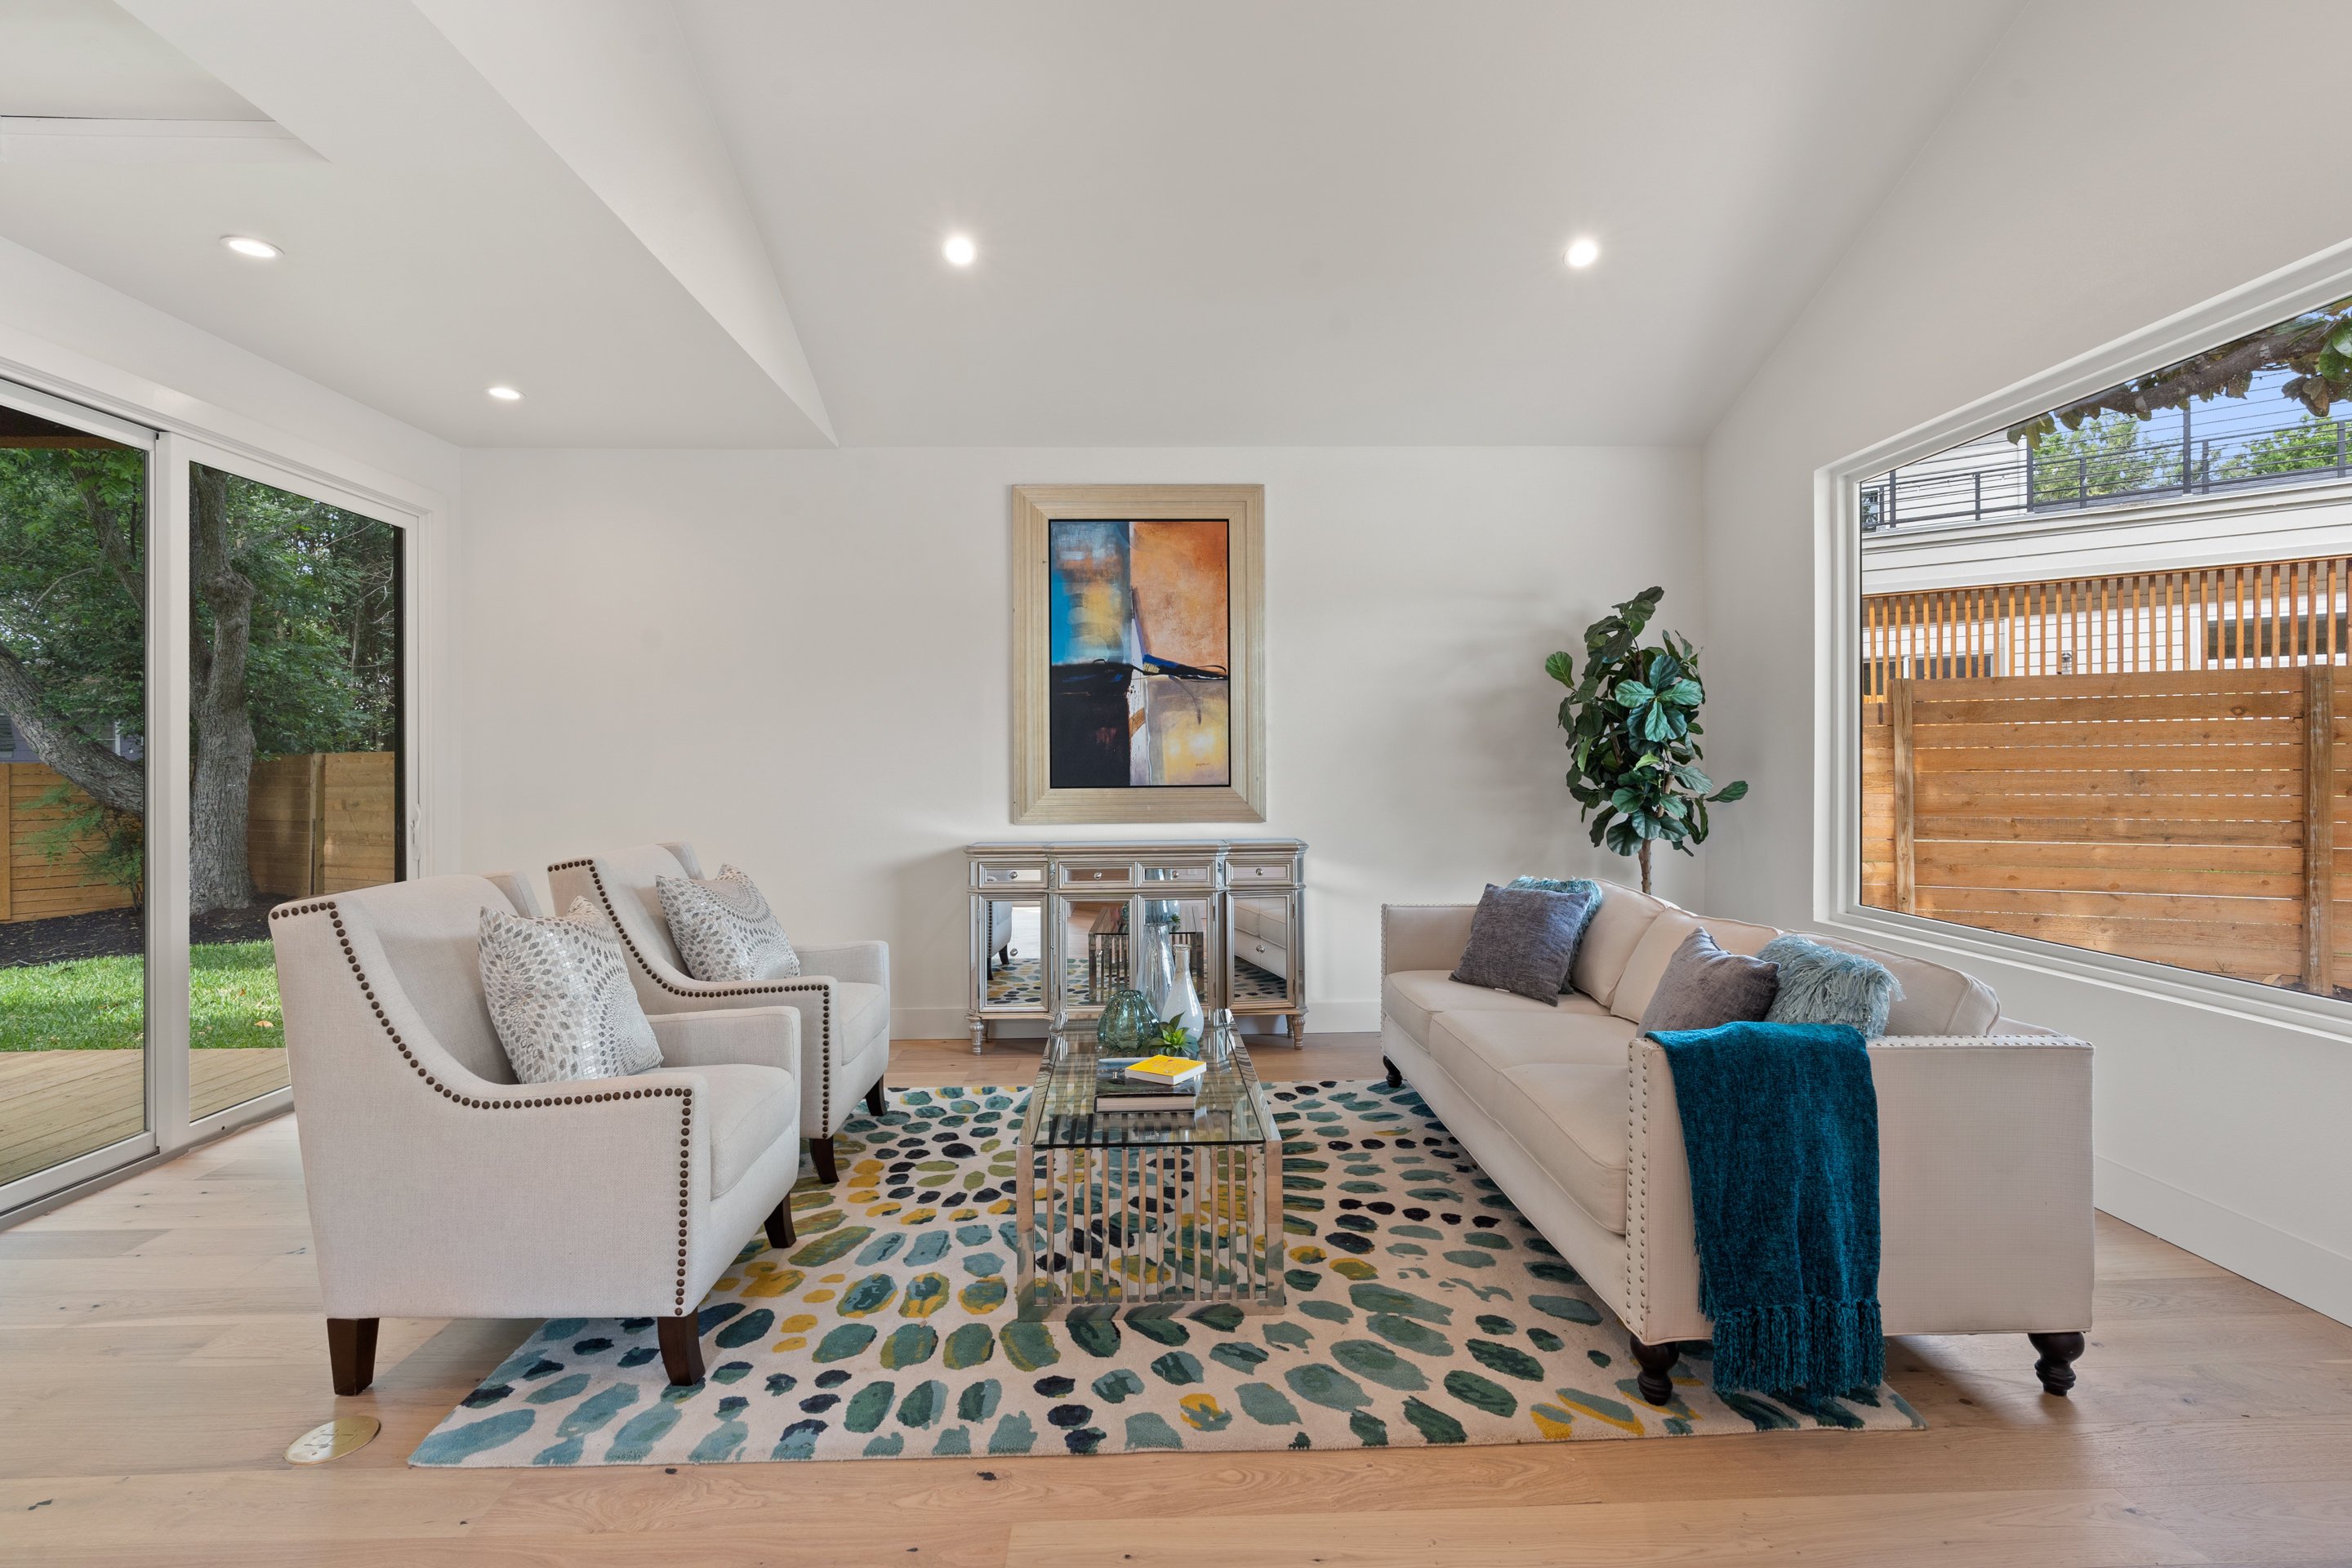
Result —
[[195, 649], [195, 679], [188, 693], [188, 717], [195, 726], [188, 912], [200, 914], [254, 900], [254, 875], [245, 849], [247, 790], [254, 773], [245, 656], [254, 635], [254, 585], [228, 552], [228, 475], [198, 463], [191, 480], [195, 592], [212, 611], [212, 644]]

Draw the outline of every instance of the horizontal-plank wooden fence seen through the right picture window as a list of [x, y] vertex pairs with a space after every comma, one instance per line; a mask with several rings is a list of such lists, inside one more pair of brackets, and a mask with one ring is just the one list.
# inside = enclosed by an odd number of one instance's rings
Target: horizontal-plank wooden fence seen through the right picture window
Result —
[[1863, 903], [2333, 994], [2347, 771], [2340, 665], [1889, 675]]

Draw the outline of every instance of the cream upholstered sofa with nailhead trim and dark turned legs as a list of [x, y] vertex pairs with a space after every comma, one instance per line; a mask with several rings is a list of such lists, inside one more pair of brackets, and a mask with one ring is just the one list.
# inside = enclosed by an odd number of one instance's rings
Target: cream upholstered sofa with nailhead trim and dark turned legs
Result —
[[[1642, 1394], [1665, 1403], [1677, 1342], [1710, 1324], [1675, 1077], [1637, 1020], [1696, 926], [1729, 952], [1780, 931], [1602, 893], [1559, 1006], [1449, 978], [1475, 905], [1385, 905], [1381, 1051], [1625, 1321]], [[1957, 969], [1813, 940], [1903, 985], [1870, 1041], [1886, 1333], [2023, 1331], [2065, 1394], [2091, 1326], [2091, 1046], [2002, 1018]]]

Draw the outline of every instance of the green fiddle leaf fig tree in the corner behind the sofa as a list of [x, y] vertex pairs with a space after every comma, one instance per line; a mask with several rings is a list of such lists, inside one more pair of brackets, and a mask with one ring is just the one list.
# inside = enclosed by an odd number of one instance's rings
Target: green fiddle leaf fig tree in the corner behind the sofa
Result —
[[[1642, 646], [1663, 588], [1644, 588], [1585, 628], [1585, 668], [1552, 654], [1543, 672], [1569, 689], [1559, 729], [1569, 731], [1569, 795], [1592, 827], [1592, 842], [1639, 856], [1649, 891], [1649, 846], [1682, 853], [1708, 842], [1708, 806], [1740, 799], [1748, 780], [1715, 788], [1698, 766], [1698, 649], [1665, 632]], [[1710, 795], [1712, 790], [1712, 795]]]

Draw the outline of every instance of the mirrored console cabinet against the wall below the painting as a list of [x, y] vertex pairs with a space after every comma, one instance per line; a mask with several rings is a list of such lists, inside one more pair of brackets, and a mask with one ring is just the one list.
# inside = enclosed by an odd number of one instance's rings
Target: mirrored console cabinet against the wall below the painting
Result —
[[969, 844], [974, 1056], [988, 1025], [1080, 1025], [1127, 985], [1131, 940], [1176, 914], [1204, 1009], [1301, 1039], [1305, 853], [1298, 839]]

